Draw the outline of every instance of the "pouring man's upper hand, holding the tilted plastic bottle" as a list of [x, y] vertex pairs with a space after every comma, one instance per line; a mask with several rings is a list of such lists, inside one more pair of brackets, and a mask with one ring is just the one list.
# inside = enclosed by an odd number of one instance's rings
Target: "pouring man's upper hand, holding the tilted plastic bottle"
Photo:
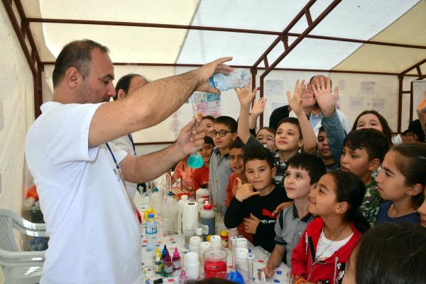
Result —
[[230, 72], [232, 72], [234, 69], [224, 64], [225, 62], [228, 62], [230, 60], [232, 60], [232, 57], [222, 57], [214, 60], [213, 62], [207, 63], [197, 69], [196, 72], [198, 75], [198, 86], [197, 88], [195, 88], [195, 90], [220, 94], [220, 91], [218, 89], [210, 86], [209, 79], [211, 76], [213, 76], [213, 74], [216, 73], [229, 74]]

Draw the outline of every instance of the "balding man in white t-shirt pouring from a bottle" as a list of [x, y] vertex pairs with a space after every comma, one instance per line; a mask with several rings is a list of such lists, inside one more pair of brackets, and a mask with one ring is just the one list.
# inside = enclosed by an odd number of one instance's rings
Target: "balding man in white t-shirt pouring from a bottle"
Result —
[[143, 283], [136, 208], [123, 181], [160, 176], [202, 145], [204, 129], [193, 129], [192, 121], [170, 147], [143, 157], [109, 141], [157, 125], [195, 90], [219, 93], [208, 80], [231, 71], [223, 64], [230, 59], [102, 103], [115, 95], [107, 47], [92, 40], [65, 45], [53, 71], [53, 101], [43, 103], [26, 137], [28, 168], [50, 237], [40, 283]]

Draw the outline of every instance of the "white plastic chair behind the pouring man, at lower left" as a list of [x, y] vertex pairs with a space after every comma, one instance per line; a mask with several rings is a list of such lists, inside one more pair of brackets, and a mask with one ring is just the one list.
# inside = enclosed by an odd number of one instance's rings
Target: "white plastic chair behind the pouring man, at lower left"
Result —
[[45, 251], [21, 251], [15, 242], [13, 229], [32, 237], [47, 237], [46, 226], [29, 222], [10, 210], [0, 209], [0, 266], [5, 283], [39, 283]]

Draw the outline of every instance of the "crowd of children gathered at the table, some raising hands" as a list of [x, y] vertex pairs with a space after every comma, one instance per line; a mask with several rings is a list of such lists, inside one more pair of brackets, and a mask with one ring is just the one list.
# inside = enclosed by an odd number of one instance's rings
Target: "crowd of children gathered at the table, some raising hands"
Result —
[[[410, 130], [419, 142], [403, 142], [375, 110], [350, 130], [331, 84], [325, 76], [297, 80], [287, 93], [293, 117], [257, 132], [266, 99], [255, 101], [249, 85], [236, 89], [238, 123], [204, 117], [204, 166], [189, 169], [184, 160], [176, 176], [192, 194], [208, 183], [226, 227], [271, 252], [259, 271], [267, 278], [284, 261], [295, 284], [412, 283], [392, 281], [425, 261], [425, 135]], [[426, 93], [417, 114], [425, 129]]]

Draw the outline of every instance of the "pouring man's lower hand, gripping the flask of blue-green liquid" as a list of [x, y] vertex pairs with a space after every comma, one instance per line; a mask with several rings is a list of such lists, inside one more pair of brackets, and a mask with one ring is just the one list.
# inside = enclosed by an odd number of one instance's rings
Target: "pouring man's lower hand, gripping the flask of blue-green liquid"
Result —
[[[194, 127], [197, 122], [197, 127]], [[198, 147], [204, 144], [204, 125], [201, 125], [201, 118], [191, 120], [190, 123], [182, 127], [179, 132], [176, 145], [182, 149], [183, 154], [189, 155], [197, 151]]]

